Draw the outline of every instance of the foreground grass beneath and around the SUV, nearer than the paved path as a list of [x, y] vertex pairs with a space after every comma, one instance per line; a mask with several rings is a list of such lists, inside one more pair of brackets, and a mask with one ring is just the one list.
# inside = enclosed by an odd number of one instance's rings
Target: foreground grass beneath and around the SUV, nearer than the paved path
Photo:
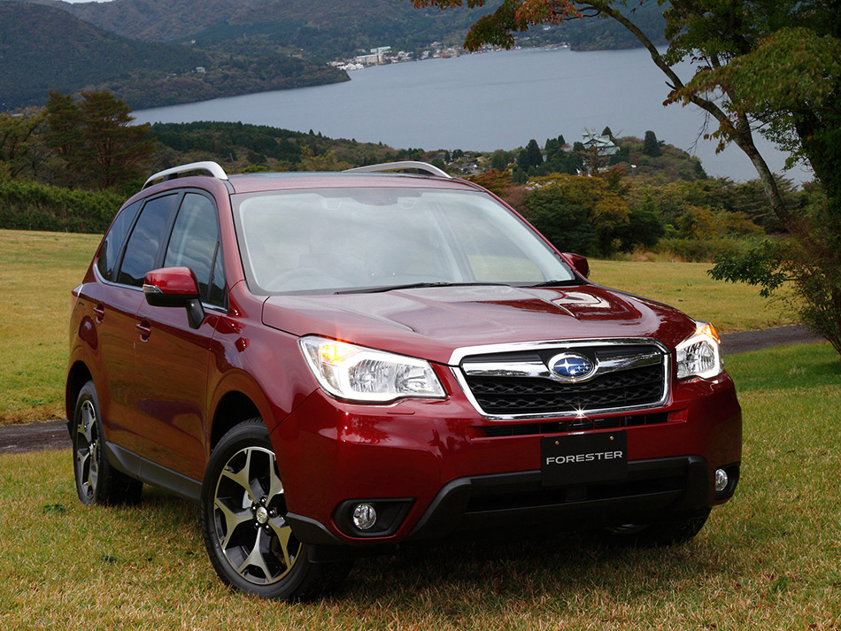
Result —
[[[69, 450], [0, 457], [0, 628], [837, 629], [841, 372], [827, 344], [728, 358], [745, 413], [737, 496], [691, 543], [607, 550], [579, 535], [406, 547], [337, 598], [224, 589], [197, 508], [144, 489], [86, 508]], [[148, 491], [148, 492], [147, 492]]]

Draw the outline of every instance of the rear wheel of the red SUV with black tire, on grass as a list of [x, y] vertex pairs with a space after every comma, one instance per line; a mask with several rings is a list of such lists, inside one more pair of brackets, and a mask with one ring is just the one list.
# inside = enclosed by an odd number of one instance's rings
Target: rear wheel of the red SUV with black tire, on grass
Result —
[[143, 482], [117, 471], [105, 456], [99, 399], [93, 381], [79, 391], [73, 411], [73, 477], [82, 504], [136, 504]]

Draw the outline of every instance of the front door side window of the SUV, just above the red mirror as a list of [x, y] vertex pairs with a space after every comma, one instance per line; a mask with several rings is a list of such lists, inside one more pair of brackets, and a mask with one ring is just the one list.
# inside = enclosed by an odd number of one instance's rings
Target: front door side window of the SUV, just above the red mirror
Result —
[[[175, 219], [173, 235], [166, 248], [165, 267], [189, 267], [196, 274], [198, 290], [205, 302], [222, 304], [224, 278], [221, 274], [219, 221], [216, 204], [203, 195], [188, 193]], [[218, 270], [217, 270], [218, 267]]]

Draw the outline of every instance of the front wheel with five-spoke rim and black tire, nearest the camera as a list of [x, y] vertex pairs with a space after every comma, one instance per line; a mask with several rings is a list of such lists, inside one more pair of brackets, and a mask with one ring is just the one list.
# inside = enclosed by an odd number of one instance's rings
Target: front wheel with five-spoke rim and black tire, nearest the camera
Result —
[[263, 598], [328, 594], [351, 563], [313, 563], [312, 547], [283, 519], [283, 485], [263, 419], [236, 425], [212, 451], [202, 484], [202, 532], [213, 568], [228, 586]]

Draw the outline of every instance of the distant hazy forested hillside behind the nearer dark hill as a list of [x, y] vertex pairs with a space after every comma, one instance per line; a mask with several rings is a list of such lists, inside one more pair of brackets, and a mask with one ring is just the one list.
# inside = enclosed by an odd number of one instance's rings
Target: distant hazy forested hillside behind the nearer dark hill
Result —
[[[315, 58], [341, 58], [377, 46], [416, 50], [432, 42], [460, 46], [468, 27], [502, 0], [482, 9], [415, 9], [410, 0], [112, 0], [60, 6], [96, 26], [158, 42], [195, 41], [228, 51], [294, 50]], [[646, 0], [637, 22], [660, 38], [662, 7]], [[606, 19], [574, 20], [549, 30], [532, 29], [524, 43], [570, 42], [574, 48], [631, 48], [636, 37]]]

